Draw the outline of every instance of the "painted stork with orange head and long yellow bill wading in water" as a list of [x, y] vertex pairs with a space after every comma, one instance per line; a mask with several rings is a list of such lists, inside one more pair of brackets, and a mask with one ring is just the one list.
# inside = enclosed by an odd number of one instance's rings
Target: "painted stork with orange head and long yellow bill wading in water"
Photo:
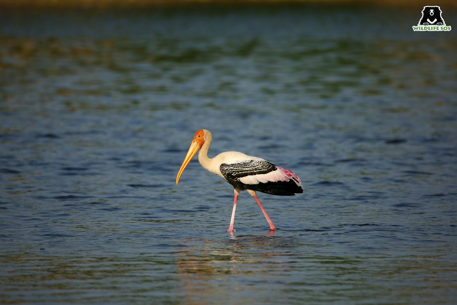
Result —
[[268, 217], [265, 209], [260, 204], [255, 191], [272, 195], [293, 196], [295, 193], [303, 193], [300, 179], [292, 171], [276, 166], [264, 159], [244, 155], [238, 151], [226, 151], [214, 158], [208, 158], [208, 149], [212, 139], [213, 137], [208, 130], [201, 129], [197, 131], [176, 176], [176, 184], [178, 184], [182, 172], [192, 157], [200, 150], [198, 153], [200, 164], [208, 171], [223, 177], [225, 181], [234, 187], [235, 197], [232, 218], [227, 232], [233, 232], [234, 230], [236, 201], [239, 192], [244, 190], [254, 197], [255, 202], [259, 205], [270, 225], [270, 230], [276, 230], [275, 225], [273, 225], [270, 217]]

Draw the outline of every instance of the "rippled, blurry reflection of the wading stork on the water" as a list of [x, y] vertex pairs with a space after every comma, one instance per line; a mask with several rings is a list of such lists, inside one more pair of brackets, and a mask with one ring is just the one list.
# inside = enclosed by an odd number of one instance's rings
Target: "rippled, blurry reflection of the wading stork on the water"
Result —
[[188, 247], [175, 252], [176, 276], [185, 292], [185, 303], [211, 304], [223, 299], [228, 294], [227, 281], [232, 283], [232, 293], [251, 293], [255, 283], [282, 270], [278, 262], [284, 253], [274, 235], [270, 230], [265, 235], [229, 232], [225, 240], [187, 239]]

